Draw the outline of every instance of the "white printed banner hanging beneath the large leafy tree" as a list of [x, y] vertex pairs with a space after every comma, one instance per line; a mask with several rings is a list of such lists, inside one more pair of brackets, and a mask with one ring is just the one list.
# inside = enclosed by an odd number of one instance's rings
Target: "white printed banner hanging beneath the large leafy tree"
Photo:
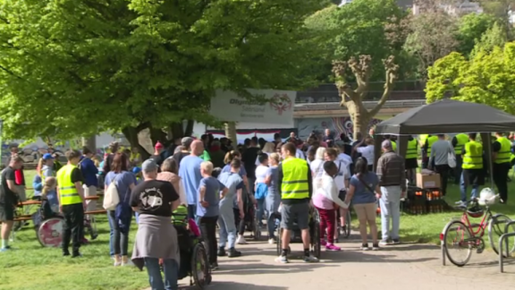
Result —
[[210, 114], [222, 121], [284, 124], [293, 126], [293, 107], [297, 92], [292, 90], [248, 90], [270, 101], [260, 104], [241, 98], [233, 91], [217, 90], [211, 99]]

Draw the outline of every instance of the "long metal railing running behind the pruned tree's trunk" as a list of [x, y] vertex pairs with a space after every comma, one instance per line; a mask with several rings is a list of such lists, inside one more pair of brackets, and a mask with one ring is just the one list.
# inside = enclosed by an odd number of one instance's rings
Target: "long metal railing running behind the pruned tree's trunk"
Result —
[[[363, 106], [367, 109], [376, 107], [376, 101], [365, 101]], [[384, 103], [383, 108], [406, 108], [406, 107], [420, 107], [426, 104], [425, 99], [410, 99], [410, 100], [388, 100]], [[340, 102], [332, 103], [308, 103], [308, 104], [295, 104], [295, 112], [302, 111], [331, 111], [341, 110], [344, 107], [340, 106]]]

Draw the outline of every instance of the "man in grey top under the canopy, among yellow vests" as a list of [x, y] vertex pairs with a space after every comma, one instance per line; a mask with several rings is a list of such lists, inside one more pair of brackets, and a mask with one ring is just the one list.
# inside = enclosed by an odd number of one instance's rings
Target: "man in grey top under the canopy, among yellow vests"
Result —
[[447, 181], [449, 180], [449, 153], [453, 154], [454, 149], [449, 141], [445, 140], [444, 134], [436, 135], [438, 141], [431, 146], [431, 155], [429, 156], [429, 168], [434, 168], [435, 172], [440, 175], [440, 183], [442, 184], [442, 194], [447, 193]]

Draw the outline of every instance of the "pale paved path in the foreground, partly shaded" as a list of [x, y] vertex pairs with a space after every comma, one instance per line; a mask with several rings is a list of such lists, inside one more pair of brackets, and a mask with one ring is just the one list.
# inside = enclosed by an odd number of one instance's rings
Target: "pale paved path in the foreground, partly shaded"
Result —
[[[356, 238], [354, 234], [351, 237]], [[456, 290], [467, 288], [512, 289], [515, 260], [507, 273], [498, 272], [494, 252], [473, 253], [469, 265], [442, 266], [440, 248], [426, 244], [401, 244], [378, 252], [359, 251], [359, 241], [340, 243], [342, 252], [322, 252], [316, 264], [300, 258], [301, 244], [294, 243], [289, 264], [277, 264], [275, 245], [253, 242], [239, 247], [244, 256], [221, 258], [214, 272], [212, 290]], [[182, 281], [182, 285], [188, 283]], [[186, 287], [187, 288], [187, 287]]]

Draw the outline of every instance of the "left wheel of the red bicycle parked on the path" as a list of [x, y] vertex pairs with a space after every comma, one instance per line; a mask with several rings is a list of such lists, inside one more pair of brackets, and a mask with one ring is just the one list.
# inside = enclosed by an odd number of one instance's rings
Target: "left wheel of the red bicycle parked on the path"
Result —
[[469, 262], [472, 256], [472, 241], [469, 227], [461, 221], [454, 220], [445, 226], [443, 232], [445, 255], [452, 264], [463, 267]]

